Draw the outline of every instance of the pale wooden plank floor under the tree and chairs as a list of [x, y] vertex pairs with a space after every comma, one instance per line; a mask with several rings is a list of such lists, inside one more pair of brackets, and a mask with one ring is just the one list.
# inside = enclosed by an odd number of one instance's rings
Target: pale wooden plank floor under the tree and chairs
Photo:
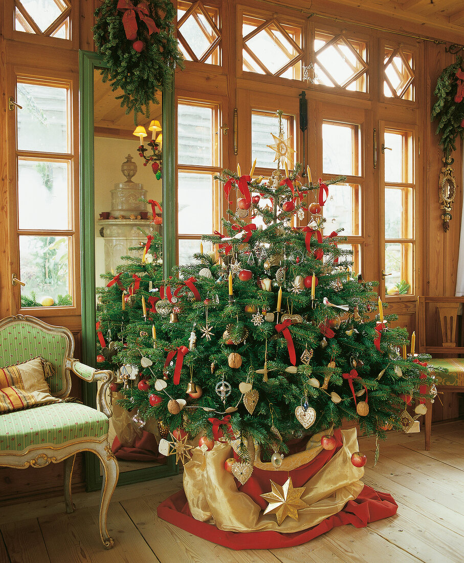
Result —
[[442, 563], [464, 561], [464, 421], [434, 425], [430, 452], [423, 434], [391, 433], [373, 466], [372, 439], [360, 440], [368, 454], [366, 484], [388, 491], [397, 515], [367, 528], [335, 528], [303, 546], [232, 551], [159, 520], [156, 506], [179, 490], [182, 477], [116, 489], [109, 511], [115, 546], [105, 551], [98, 534], [98, 493], [75, 495], [76, 511], [62, 499], [3, 508], [3, 563], [291, 563], [368, 561]]

